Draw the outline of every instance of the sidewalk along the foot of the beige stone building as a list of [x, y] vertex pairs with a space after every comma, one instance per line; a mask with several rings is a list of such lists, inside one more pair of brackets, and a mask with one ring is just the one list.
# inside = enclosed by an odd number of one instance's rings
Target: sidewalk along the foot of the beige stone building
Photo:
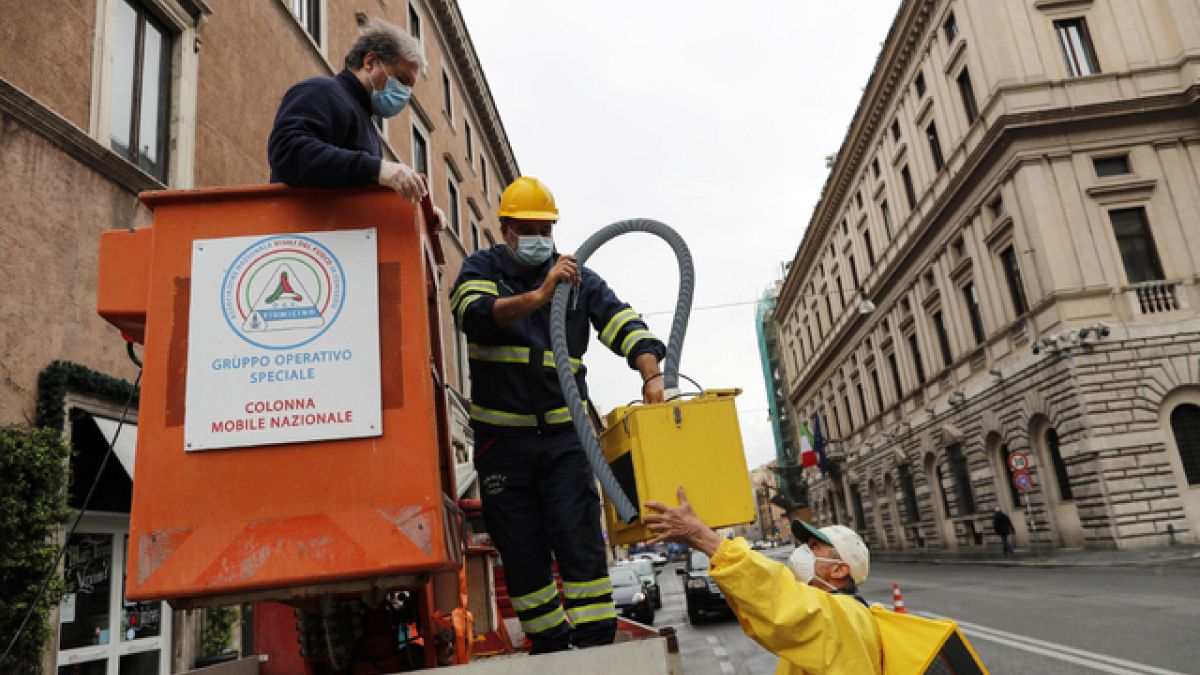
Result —
[[[997, 544], [995, 548], [1000, 548]], [[1016, 549], [1010, 557], [1001, 557], [992, 549], [968, 551], [886, 550], [872, 549], [872, 562], [923, 565], [980, 565], [991, 567], [1200, 567], [1200, 544], [1180, 544], [1158, 549], [1086, 550], [1086, 549]]]

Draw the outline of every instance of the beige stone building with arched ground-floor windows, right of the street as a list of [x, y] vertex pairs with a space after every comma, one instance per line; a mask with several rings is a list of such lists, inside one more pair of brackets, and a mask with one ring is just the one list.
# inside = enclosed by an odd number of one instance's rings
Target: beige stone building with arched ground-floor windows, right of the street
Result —
[[1195, 2], [901, 4], [778, 300], [818, 522], [1198, 540], [1198, 112]]

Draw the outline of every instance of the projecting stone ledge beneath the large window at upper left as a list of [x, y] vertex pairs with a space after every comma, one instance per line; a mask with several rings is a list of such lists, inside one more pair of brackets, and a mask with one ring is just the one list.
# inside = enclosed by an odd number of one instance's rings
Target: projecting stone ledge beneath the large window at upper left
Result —
[[82, 165], [108, 178], [131, 193], [166, 190], [158, 179], [118, 155], [95, 138], [47, 108], [17, 85], [0, 77], [0, 114], [49, 141]]

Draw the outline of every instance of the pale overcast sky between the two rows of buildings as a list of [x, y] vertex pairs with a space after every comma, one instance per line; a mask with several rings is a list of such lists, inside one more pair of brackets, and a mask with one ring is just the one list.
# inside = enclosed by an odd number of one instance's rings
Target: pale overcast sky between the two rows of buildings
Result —
[[[791, 259], [900, 0], [458, 0], [512, 150], [554, 191], [558, 249], [652, 217], [686, 239], [697, 307], [680, 371], [738, 387], [751, 468], [775, 456], [754, 301]], [[588, 267], [666, 341], [678, 288], [665, 243], [626, 234]], [[592, 398], [638, 396], [593, 342]]]

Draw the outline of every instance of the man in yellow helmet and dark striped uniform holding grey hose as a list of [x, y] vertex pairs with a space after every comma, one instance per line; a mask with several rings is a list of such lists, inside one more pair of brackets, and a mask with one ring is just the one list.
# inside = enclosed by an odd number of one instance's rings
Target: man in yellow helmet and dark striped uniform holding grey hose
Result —
[[[554, 252], [550, 189], [522, 177], [500, 198], [504, 243], [463, 263], [450, 292], [468, 341], [475, 468], [484, 521], [504, 561], [512, 608], [532, 653], [612, 643], [612, 603], [600, 496], [554, 372], [550, 300], [576, 286], [566, 311], [571, 368], [583, 396], [588, 324], [642, 376], [646, 402], [662, 400], [666, 347], [600, 276]], [[564, 598], [552, 575], [558, 562]], [[564, 611], [565, 609], [565, 611]]]

